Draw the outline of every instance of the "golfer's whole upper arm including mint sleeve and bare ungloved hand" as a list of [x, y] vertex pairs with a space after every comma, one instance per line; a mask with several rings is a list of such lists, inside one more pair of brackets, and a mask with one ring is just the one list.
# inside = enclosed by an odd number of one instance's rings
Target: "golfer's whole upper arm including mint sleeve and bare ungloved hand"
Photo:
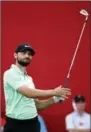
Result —
[[4, 74], [4, 83], [28, 98], [58, 96], [66, 99], [68, 95], [71, 95], [70, 89], [62, 86], [51, 90], [34, 89], [33, 86], [28, 86], [24, 81], [20, 81], [20, 76], [13, 74], [12, 71]]

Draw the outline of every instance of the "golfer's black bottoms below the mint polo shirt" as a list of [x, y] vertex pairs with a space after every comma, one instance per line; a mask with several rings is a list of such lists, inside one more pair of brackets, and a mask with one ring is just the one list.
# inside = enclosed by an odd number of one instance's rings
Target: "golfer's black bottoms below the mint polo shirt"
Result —
[[17, 120], [6, 117], [4, 132], [40, 132], [38, 117], [28, 120]]

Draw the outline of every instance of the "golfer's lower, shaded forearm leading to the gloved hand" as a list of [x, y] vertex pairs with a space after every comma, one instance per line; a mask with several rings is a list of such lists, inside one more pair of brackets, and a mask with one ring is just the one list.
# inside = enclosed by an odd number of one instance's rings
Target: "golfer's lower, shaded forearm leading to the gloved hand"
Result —
[[53, 97], [47, 99], [47, 100], [35, 100], [36, 108], [37, 110], [43, 110], [48, 108], [49, 106], [53, 105], [54, 99]]

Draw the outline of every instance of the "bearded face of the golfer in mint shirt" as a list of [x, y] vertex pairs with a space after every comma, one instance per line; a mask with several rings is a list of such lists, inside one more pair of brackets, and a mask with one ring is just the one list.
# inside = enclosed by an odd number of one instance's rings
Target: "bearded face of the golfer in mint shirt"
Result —
[[32, 60], [32, 55], [30, 51], [23, 51], [18, 52], [17, 54], [15, 53], [15, 58], [20, 65], [26, 67], [30, 64]]

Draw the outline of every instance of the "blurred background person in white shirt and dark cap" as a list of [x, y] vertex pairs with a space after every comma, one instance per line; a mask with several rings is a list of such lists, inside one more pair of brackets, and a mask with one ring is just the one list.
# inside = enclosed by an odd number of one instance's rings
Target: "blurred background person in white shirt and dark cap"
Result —
[[75, 96], [72, 105], [74, 111], [65, 118], [66, 130], [68, 132], [90, 132], [90, 114], [85, 112], [85, 97], [82, 95]]

